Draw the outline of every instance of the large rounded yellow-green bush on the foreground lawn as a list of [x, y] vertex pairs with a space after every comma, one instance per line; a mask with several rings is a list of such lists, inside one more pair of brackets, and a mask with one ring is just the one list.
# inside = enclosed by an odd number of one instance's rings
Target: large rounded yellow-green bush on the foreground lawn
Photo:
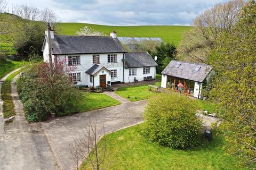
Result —
[[172, 148], [199, 145], [203, 127], [195, 116], [194, 102], [174, 92], [149, 100], [144, 112], [144, 132], [149, 140]]

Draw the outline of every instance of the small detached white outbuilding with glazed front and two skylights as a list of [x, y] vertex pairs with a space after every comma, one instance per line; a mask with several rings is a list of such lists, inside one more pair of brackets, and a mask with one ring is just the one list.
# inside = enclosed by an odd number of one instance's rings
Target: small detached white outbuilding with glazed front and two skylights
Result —
[[[172, 60], [162, 71], [162, 88], [201, 98], [202, 89], [214, 75], [212, 66]], [[183, 86], [179, 89], [179, 86]]]

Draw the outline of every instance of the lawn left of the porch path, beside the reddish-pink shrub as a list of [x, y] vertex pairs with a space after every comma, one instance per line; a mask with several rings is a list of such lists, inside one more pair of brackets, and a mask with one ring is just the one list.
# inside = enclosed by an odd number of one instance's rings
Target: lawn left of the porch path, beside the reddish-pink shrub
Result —
[[97, 93], [86, 93], [83, 92], [83, 99], [78, 106], [78, 112], [91, 111], [94, 109], [115, 106], [121, 104], [116, 99], [106, 95]]

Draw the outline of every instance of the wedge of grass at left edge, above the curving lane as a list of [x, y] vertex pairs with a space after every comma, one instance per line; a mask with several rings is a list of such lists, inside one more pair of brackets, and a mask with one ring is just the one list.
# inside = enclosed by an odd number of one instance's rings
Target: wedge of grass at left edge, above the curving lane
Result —
[[25, 63], [26, 62], [24, 61], [0, 61], [0, 79], [2, 79], [6, 74], [10, 73], [11, 71], [18, 69]]

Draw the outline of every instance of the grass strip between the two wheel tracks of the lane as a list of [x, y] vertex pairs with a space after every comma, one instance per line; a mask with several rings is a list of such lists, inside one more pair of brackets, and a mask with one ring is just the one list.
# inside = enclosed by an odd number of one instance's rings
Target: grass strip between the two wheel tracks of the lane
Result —
[[3, 82], [2, 87], [1, 87], [1, 98], [4, 101], [3, 103], [3, 116], [4, 118], [9, 118], [13, 115], [15, 115], [14, 111], [14, 105], [12, 101], [12, 87], [11, 87], [11, 82], [15, 75], [19, 74], [22, 70], [19, 70], [17, 72], [12, 73], [7, 77], [7, 79]]

